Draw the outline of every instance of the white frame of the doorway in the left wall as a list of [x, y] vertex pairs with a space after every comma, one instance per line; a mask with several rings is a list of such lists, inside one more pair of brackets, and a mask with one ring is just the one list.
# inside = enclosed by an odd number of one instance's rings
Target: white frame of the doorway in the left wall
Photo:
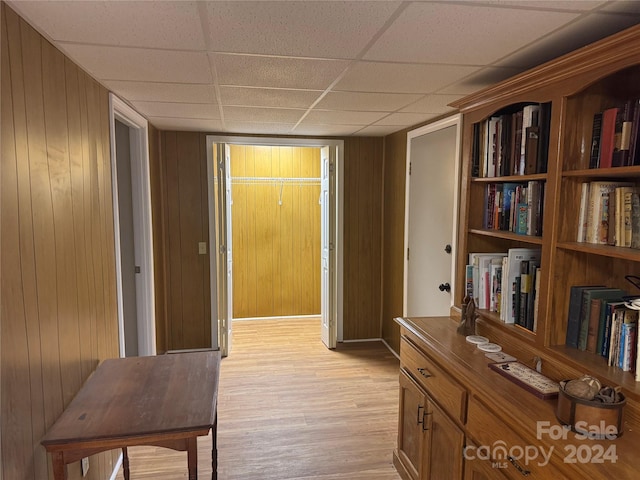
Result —
[[151, 222], [151, 185], [149, 178], [149, 135], [147, 120], [113, 93], [109, 94], [111, 127], [111, 183], [113, 195], [113, 230], [115, 235], [116, 294], [120, 356], [125, 356], [122, 266], [120, 251], [120, 213], [116, 164], [115, 121], [129, 127], [131, 142], [131, 190], [136, 265], [138, 317], [138, 355], [156, 354], [155, 286], [153, 276], [153, 236]]

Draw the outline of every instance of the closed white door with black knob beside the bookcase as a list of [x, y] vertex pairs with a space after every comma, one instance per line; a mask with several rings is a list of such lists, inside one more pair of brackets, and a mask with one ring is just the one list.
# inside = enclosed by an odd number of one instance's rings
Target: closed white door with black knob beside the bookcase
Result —
[[458, 128], [409, 138], [405, 316], [449, 315], [452, 305]]

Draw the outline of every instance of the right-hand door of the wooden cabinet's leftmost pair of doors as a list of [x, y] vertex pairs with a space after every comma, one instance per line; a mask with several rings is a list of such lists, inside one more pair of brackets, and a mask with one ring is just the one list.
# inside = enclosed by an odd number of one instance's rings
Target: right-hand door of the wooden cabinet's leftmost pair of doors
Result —
[[429, 402], [424, 467], [427, 480], [462, 480], [464, 433], [433, 402]]

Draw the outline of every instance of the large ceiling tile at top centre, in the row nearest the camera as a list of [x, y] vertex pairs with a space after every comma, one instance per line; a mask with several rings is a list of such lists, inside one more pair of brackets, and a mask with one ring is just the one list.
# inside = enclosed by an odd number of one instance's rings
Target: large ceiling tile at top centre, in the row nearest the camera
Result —
[[354, 58], [400, 3], [208, 2], [208, 47], [215, 52]]

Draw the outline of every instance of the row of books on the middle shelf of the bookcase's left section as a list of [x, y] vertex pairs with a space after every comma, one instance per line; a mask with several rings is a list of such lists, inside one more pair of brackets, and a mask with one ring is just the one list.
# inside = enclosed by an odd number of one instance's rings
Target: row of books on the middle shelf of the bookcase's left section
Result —
[[483, 226], [521, 235], [542, 235], [544, 182], [490, 183]]

